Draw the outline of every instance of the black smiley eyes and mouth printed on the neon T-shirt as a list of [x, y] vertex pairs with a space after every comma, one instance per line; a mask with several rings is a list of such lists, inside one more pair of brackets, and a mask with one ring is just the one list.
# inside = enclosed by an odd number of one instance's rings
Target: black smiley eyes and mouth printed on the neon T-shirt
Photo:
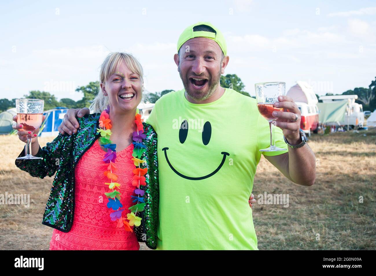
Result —
[[[188, 121], [184, 120], [182, 122], [181, 126], [180, 126], [180, 129], [179, 129], [179, 141], [180, 141], [181, 144], [183, 144], [185, 142], [187, 135], [188, 135]], [[211, 124], [210, 124], [209, 121], [207, 121], [204, 124], [203, 130], [202, 130], [202, 143], [206, 146], [207, 144], [209, 144], [210, 138], [211, 138]], [[230, 156], [230, 154], [228, 152], [221, 152], [221, 154], [223, 154], [221, 164], [219, 164], [219, 166], [212, 173], [209, 173], [206, 176], [201, 176], [201, 177], [191, 177], [191, 176], [186, 176], [184, 174], [179, 173], [179, 171], [177, 171], [173, 167], [173, 165], [171, 165], [170, 160], [168, 160], [168, 157], [167, 157], [168, 147], [164, 147], [162, 150], [165, 153], [165, 158], [166, 158], [167, 164], [170, 166], [171, 170], [173, 170], [173, 172], [176, 173], [178, 176], [183, 177], [185, 179], [189, 179], [189, 180], [202, 180], [202, 179], [206, 179], [208, 177], [213, 176], [223, 166], [224, 161], [226, 161], [226, 156], [227, 155]]]

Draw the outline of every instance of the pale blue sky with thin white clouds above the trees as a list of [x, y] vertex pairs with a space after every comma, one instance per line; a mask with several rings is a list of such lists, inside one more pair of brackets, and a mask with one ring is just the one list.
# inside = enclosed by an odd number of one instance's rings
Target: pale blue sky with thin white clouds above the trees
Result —
[[315, 93], [368, 87], [376, 76], [375, 1], [13, 1], [0, 3], [1, 98], [31, 90], [80, 100], [110, 52], [132, 53], [147, 91], [183, 88], [173, 61], [180, 33], [209, 21], [229, 64], [255, 95], [258, 82], [308, 82]]

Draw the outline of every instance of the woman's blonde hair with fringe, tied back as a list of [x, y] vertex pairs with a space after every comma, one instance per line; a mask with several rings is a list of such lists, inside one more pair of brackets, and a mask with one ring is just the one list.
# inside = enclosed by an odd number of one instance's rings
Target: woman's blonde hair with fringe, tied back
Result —
[[[100, 83], [105, 83], [109, 76], [117, 71], [118, 66], [121, 62], [124, 62], [128, 69], [132, 73], [136, 73], [140, 76], [141, 83], [143, 84], [144, 90], [144, 70], [138, 60], [128, 54], [123, 52], [114, 52], [106, 56], [100, 67], [99, 79]], [[99, 88], [100, 90], [100, 88]], [[142, 93], [142, 91], [141, 91]], [[103, 95], [102, 91], [98, 91], [97, 96], [92, 101], [89, 109], [91, 112], [102, 112], [109, 105], [108, 97]]]

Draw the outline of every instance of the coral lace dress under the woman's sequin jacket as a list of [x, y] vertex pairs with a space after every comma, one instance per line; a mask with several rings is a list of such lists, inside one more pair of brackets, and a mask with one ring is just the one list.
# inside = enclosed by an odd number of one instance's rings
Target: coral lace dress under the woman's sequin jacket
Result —
[[[132, 196], [135, 187], [132, 186], [133, 144], [117, 152], [116, 174], [121, 193], [123, 217], [127, 208], [133, 205]], [[112, 209], [107, 208], [108, 182], [103, 175], [106, 164], [103, 162], [105, 151], [96, 140], [81, 156], [75, 168], [75, 199], [74, 219], [71, 230], [67, 233], [53, 230], [50, 250], [138, 250], [139, 244], [134, 232], [128, 232], [124, 226], [117, 228], [117, 221], [111, 221], [109, 216]]]

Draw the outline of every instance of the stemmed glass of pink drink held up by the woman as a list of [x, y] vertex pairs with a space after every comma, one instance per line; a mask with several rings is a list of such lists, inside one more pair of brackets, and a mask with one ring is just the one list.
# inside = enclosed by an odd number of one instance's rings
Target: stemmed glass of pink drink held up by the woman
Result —
[[38, 99], [16, 99], [17, 123], [22, 124], [23, 131], [30, 131], [27, 135], [26, 156], [16, 159], [42, 159], [33, 156], [30, 150], [33, 132], [42, 124], [44, 100]]

